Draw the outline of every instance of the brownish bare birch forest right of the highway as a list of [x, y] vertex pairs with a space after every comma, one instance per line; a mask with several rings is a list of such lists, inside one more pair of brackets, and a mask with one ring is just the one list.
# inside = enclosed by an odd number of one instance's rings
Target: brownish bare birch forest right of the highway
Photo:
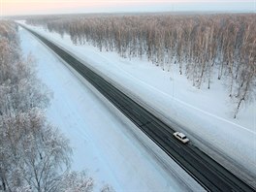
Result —
[[74, 44], [89, 44], [122, 57], [146, 57], [164, 71], [179, 74], [201, 88], [225, 81], [229, 97], [240, 106], [255, 101], [256, 15], [39, 16], [28, 24], [70, 35]]

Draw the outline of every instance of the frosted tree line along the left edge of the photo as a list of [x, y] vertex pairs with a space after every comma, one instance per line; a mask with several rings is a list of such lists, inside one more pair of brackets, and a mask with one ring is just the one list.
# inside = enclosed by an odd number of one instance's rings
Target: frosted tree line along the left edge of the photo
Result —
[[22, 57], [17, 30], [0, 21], [0, 191], [92, 191], [91, 177], [70, 170], [68, 139], [48, 123], [50, 93], [33, 57]]

